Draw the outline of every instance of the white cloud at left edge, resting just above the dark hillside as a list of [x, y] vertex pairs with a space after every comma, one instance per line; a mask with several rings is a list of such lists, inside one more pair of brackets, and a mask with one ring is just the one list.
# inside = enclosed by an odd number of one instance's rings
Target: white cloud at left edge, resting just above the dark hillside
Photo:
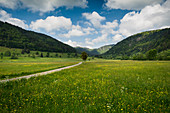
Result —
[[19, 27], [22, 27], [24, 29], [28, 28], [28, 25], [25, 24], [25, 22], [23, 20], [20, 20], [17, 18], [12, 18], [12, 16], [4, 10], [0, 10], [0, 20], [4, 21], [4, 22], [11, 23], [11, 24], [19, 26]]

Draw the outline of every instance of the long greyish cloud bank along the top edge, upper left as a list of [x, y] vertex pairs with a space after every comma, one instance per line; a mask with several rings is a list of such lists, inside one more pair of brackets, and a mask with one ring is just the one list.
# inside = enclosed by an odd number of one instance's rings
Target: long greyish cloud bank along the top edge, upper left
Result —
[[40, 11], [42, 13], [54, 11], [59, 7], [87, 7], [86, 0], [0, 0], [0, 5], [6, 8], [28, 8], [31, 11]]

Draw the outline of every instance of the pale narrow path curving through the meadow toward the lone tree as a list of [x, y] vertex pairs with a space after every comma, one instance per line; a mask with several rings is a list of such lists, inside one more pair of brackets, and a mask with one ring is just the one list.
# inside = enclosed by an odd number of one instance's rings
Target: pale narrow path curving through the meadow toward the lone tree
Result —
[[22, 76], [22, 77], [11, 78], [11, 79], [0, 80], [0, 82], [8, 82], [8, 81], [18, 80], [18, 79], [22, 79], [22, 78], [29, 79], [31, 77], [47, 75], [47, 74], [54, 73], [54, 72], [57, 72], [57, 71], [61, 71], [61, 70], [64, 70], [64, 69], [72, 68], [72, 67], [78, 66], [80, 64], [82, 64], [82, 62], [75, 64], [75, 65], [71, 65], [71, 66], [67, 66], [67, 67], [63, 67], [63, 68], [59, 68], [59, 69], [54, 69], [54, 70], [50, 70], [50, 71], [46, 71], [46, 72], [41, 72], [41, 73], [31, 74], [31, 75]]

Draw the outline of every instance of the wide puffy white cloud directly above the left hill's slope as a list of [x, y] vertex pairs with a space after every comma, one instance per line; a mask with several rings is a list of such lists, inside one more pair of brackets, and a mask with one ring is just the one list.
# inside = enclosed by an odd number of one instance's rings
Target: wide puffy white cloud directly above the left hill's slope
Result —
[[39, 19], [35, 22], [31, 22], [30, 27], [33, 30], [41, 31], [42, 29], [46, 32], [59, 31], [61, 29], [69, 30], [72, 26], [70, 18], [63, 16], [55, 17], [49, 16], [45, 20]]

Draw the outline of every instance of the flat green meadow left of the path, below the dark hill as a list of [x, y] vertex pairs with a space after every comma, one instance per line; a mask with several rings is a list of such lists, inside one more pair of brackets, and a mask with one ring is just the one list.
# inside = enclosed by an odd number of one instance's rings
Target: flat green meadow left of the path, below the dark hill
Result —
[[13, 78], [32, 73], [56, 69], [78, 63], [80, 59], [73, 58], [4, 58], [0, 62], [0, 79]]

